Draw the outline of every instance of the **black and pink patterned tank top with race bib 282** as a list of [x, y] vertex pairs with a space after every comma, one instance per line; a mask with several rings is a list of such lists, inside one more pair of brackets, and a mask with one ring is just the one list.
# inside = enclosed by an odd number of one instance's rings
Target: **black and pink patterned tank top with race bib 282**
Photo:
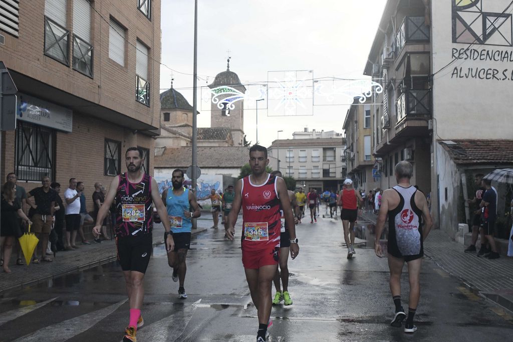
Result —
[[126, 173], [118, 177], [120, 184], [116, 193], [116, 237], [151, 234], [151, 176], [144, 174], [139, 183], [128, 181]]

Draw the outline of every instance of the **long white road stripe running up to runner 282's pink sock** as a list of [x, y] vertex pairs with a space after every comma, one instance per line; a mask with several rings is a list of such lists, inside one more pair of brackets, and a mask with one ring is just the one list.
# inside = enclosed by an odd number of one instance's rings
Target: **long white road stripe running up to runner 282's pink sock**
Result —
[[[101, 321], [119, 307], [121, 307], [127, 299], [123, 299], [107, 308], [96, 310], [88, 314], [71, 318], [60, 323], [54, 324], [46, 328], [42, 328], [33, 332], [32, 334], [25, 335], [15, 340], [15, 342], [31, 342], [31, 341], [44, 341], [52, 340], [53, 342], [66, 341], [84, 331], [90, 329], [97, 322]], [[51, 336], [51, 337], [50, 337]]]

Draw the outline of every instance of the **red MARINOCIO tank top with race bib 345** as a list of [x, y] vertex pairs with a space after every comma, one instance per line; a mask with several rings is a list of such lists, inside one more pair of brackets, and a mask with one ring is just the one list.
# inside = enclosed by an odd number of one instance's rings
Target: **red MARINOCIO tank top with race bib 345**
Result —
[[277, 177], [269, 174], [262, 185], [253, 185], [250, 176], [242, 179], [242, 249], [260, 251], [280, 246], [280, 199]]

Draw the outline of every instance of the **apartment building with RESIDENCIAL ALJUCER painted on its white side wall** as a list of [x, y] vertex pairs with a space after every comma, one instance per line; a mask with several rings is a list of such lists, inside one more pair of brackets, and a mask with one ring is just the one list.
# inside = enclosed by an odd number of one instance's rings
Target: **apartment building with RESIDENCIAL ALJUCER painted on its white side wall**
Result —
[[435, 225], [453, 237], [470, 219], [466, 179], [513, 165], [510, 12], [506, 0], [388, 0], [365, 66], [384, 87], [371, 107], [380, 186], [410, 161]]

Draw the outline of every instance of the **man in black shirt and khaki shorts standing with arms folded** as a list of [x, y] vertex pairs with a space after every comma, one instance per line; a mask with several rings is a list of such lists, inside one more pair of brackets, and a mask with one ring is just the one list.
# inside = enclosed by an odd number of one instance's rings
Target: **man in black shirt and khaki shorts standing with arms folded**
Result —
[[[42, 186], [36, 187], [29, 191], [27, 198], [34, 197], [34, 202], [30, 203], [34, 209], [32, 215], [32, 232], [39, 238], [41, 246], [41, 260], [53, 261], [46, 257], [46, 249], [48, 248], [48, 236], [52, 230], [53, 211], [55, 210], [55, 198], [57, 193], [50, 188], [50, 178], [44, 176], [41, 181]], [[37, 248], [34, 251], [33, 263], [39, 263], [37, 258]]]

